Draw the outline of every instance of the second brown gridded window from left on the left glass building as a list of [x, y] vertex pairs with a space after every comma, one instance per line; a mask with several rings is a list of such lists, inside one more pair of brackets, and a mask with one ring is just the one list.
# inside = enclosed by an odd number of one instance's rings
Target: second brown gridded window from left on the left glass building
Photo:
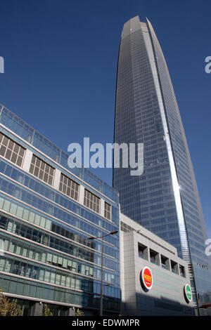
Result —
[[55, 169], [53, 169], [53, 167], [33, 154], [30, 173], [32, 173], [34, 176], [37, 176], [37, 178], [44, 181], [45, 183], [52, 185], [54, 171]]

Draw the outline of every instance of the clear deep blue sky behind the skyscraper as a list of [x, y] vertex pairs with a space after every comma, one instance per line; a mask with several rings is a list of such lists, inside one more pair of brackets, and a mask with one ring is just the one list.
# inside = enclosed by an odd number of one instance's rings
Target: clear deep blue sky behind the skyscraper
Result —
[[[124, 22], [151, 20], [167, 60], [211, 238], [211, 1], [7, 0], [0, 4], [0, 103], [67, 151], [113, 142]], [[92, 170], [112, 184], [111, 169]]]

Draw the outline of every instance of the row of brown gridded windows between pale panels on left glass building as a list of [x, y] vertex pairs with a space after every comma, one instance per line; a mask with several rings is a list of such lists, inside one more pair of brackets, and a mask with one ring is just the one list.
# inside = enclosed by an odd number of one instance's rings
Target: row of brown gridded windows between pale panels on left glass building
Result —
[[[0, 155], [5, 157], [9, 161], [12, 161], [15, 165], [23, 165], [23, 157], [25, 155], [25, 148], [11, 140], [4, 134], [0, 133]], [[53, 166], [47, 164], [45, 161], [33, 154], [32, 161], [30, 164], [30, 173], [33, 176], [39, 178], [39, 180], [44, 181], [49, 185], [53, 185], [53, 178], [55, 174], [55, 169]], [[63, 173], [60, 174], [60, 192], [75, 199], [79, 199], [79, 184], [74, 180], [68, 178]], [[84, 190], [84, 206], [87, 206], [92, 211], [100, 213], [100, 202], [101, 199], [90, 192], [89, 190]], [[111, 205], [105, 202], [104, 216], [108, 220], [111, 220]]]

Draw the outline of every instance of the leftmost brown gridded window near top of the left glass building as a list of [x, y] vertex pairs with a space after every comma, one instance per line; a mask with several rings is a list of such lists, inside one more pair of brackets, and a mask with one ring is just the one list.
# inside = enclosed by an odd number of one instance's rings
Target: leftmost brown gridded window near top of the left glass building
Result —
[[0, 155], [15, 165], [22, 166], [25, 148], [0, 133]]

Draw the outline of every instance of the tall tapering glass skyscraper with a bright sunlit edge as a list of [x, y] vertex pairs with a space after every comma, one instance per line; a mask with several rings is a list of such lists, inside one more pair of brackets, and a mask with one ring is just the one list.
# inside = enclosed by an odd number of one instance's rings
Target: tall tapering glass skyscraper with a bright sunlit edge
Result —
[[139, 16], [122, 31], [115, 143], [143, 143], [144, 150], [141, 176], [113, 170], [122, 213], [176, 246], [188, 262], [196, 305], [211, 302], [205, 221], [177, 100], [151, 22]]

